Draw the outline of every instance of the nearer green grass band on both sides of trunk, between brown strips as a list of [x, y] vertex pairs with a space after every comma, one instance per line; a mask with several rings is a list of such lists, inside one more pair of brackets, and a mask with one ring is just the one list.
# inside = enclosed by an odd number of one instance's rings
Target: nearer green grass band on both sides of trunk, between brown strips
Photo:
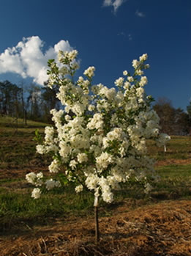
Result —
[[[124, 203], [128, 205], [146, 205], [161, 200], [191, 199], [191, 164], [158, 167], [161, 180], [156, 183], [150, 194], [144, 194], [143, 186], [130, 183], [115, 191], [115, 200], [111, 205], [100, 201], [100, 216], [112, 214], [113, 208]], [[48, 191], [38, 200], [31, 198], [32, 187], [25, 183], [23, 189], [9, 189], [12, 184], [22, 183], [22, 179], [8, 180], [8, 186], [0, 184], [0, 230], [9, 229], [20, 222], [29, 226], [48, 224], [51, 219], [60, 217], [67, 221], [71, 216], [93, 216], [93, 194], [84, 191], [76, 194], [72, 184], [64, 188]], [[22, 187], [22, 186], [20, 186]], [[18, 188], [18, 187], [17, 187]]]

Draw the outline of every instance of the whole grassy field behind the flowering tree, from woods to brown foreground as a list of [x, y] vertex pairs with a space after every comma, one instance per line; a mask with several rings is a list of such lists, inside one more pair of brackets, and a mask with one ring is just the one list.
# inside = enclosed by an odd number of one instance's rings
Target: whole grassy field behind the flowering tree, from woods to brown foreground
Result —
[[[11, 235], [29, 232], [35, 225], [45, 226], [56, 219], [61, 223], [72, 219], [94, 216], [94, 198], [90, 193], [75, 194], [74, 187], [67, 185], [43, 194], [40, 200], [31, 198], [32, 186], [26, 183], [28, 172], [48, 173], [50, 158], [36, 153], [35, 129], [43, 134], [46, 124], [23, 120], [15, 123], [11, 118], [0, 118], [0, 234]], [[144, 194], [143, 187], [135, 182], [115, 191], [111, 205], [100, 202], [100, 216], [110, 218], [120, 208], [150, 207], [163, 202], [191, 199], [191, 139], [188, 136], [172, 136], [167, 152], [148, 142], [149, 156], [156, 160], [160, 182], [151, 194]], [[128, 206], [127, 210], [125, 207]], [[19, 254], [18, 254], [19, 255]], [[28, 255], [27, 255], [28, 256]]]

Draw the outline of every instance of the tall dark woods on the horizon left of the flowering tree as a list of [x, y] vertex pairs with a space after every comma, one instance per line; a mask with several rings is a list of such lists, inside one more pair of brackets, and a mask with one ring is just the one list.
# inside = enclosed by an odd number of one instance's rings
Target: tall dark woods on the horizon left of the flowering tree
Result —
[[51, 122], [50, 109], [59, 109], [56, 93], [56, 87], [50, 89], [30, 84], [26, 89], [23, 84], [0, 82], [0, 114], [25, 121]]

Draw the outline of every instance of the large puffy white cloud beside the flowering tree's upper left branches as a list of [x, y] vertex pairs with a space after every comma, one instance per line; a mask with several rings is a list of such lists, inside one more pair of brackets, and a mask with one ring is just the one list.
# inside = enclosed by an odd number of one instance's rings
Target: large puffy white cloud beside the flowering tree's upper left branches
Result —
[[31, 77], [37, 84], [48, 80], [48, 59], [56, 59], [59, 50], [71, 51], [68, 41], [61, 40], [43, 53], [43, 41], [38, 36], [23, 37], [15, 47], [7, 48], [0, 54], [0, 74], [17, 73], [23, 78]]

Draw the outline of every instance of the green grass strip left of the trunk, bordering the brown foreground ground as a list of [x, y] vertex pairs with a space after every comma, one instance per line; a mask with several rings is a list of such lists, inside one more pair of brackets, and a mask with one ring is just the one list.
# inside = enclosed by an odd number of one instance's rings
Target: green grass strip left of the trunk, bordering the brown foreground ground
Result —
[[92, 194], [75, 194], [71, 186], [43, 194], [38, 200], [31, 198], [30, 188], [24, 191], [0, 188], [0, 233], [20, 222], [32, 226], [48, 224], [51, 219], [58, 217], [89, 216], [93, 203]]

